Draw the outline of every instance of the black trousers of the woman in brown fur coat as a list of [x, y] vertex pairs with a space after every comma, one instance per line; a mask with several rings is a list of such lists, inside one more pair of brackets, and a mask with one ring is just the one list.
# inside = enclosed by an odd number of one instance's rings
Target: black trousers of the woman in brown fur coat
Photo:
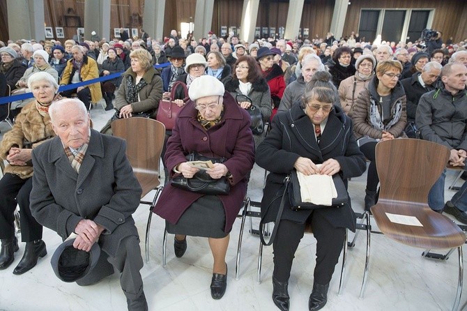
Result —
[[31, 242], [42, 238], [43, 227], [31, 215], [29, 194], [33, 187], [32, 178], [21, 179], [20, 176], [5, 174], [0, 179], [0, 238], [15, 236], [15, 208], [20, 205], [20, 225], [23, 242]]

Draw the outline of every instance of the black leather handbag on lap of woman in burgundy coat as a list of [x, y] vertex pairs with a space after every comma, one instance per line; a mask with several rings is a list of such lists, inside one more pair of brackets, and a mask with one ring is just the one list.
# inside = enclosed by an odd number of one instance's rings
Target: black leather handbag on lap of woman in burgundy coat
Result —
[[[213, 163], [223, 163], [226, 160], [225, 158], [209, 158], [199, 153], [190, 153], [186, 158], [188, 161], [210, 160]], [[174, 176], [170, 183], [175, 188], [203, 195], [228, 195], [230, 191], [230, 183], [226, 176], [222, 176], [220, 179], [213, 179], [204, 171], [197, 172], [191, 179], [187, 179], [182, 174], [179, 174]]]

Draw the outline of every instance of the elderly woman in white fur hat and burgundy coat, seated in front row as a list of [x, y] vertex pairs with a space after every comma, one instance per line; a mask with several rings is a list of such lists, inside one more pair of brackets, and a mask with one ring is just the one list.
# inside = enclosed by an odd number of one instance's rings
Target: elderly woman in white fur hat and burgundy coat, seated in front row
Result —
[[[208, 238], [214, 259], [210, 292], [214, 299], [220, 299], [227, 288], [225, 255], [229, 233], [254, 164], [250, 115], [215, 77], [203, 75], [194, 79], [188, 91], [190, 101], [178, 113], [167, 142], [165, 163], [171, 182], [164, 187], [153, 211], [166, 220], [167, 232], [175, 234], [176, 257], [185, 254], [186, 236]], [[213, 167], [204, 172], [210, 179], [227, 179], [230, 185], [227, 195], [209, 195], [174, 186], [177, 177], [183, 176], [190, 182], [202, 173], [187, 162], [191, 153], [224, 159], [213, 161], [216, 162]]]

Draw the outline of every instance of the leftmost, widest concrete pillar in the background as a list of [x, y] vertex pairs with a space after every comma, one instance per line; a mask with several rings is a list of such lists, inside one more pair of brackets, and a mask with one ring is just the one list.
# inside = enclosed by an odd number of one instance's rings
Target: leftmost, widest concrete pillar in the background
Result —
[[[42, 40], [45, 38], [44, 1], [7, 0], [6, 6], [9, 39]], [[18, 21], [21, 21], [20, 24]]]

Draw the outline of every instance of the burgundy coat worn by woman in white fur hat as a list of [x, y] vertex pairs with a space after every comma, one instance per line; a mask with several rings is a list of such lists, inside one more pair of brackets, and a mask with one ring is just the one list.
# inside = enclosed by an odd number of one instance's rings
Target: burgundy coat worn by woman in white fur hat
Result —
[[[212, 158], [227, 158], [224, 165], [232, 174], [229, 195], [218, 196], [224, 205], [225, 232], [230, 232], [247, 192], [248, 176], [254, 165], [254, 142], [250, 115], [224, 93], [224, 116], [217, 125], [205, 130], [197, 121], [197, 109], [191, 101], [178, 113], [167, 142], [165, 162], [171, 176], [176, 165], [186, 162], [192, 151]], [[175, 224], [199, 195], [174, 188], [168, 183], [155, 204], [154, 213]], [[202, 224], [200, 224], [202, 225]]]

